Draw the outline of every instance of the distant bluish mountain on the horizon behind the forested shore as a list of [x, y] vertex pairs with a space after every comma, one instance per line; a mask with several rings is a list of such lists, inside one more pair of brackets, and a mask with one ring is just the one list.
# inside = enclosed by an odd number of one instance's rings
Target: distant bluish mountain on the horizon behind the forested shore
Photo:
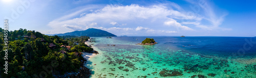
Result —
[[57, 34], [60, 36], [63, 35], [75, 35], [75, 36], [116, 36], [115, 34], [112, 34], [110, 32], [101, 30], [101, 29], [95, 29], [95, 28], [89, 28], [87, 30], [82, 31], [73, 31], [73, 32], [67, 32], [67, 33], [61, 33]]

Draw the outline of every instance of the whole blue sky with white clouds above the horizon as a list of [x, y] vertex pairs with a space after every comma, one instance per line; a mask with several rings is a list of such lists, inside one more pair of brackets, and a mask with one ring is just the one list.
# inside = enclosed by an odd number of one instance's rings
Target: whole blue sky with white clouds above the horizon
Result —
[[255, 3], [0, 0], [0, 18], [9, 19], [9, 30], [26, 28], [45, 34], [98, 28], [118, 36], [256, 36]]

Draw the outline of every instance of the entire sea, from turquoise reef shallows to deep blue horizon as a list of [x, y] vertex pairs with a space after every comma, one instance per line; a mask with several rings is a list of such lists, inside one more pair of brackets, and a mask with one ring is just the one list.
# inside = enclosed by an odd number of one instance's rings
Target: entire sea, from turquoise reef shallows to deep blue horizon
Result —
[[256, 77], [255, 37], [148, 36], [158, 44], [136, 45], [145, 38], [92, 37], [91, 77]]

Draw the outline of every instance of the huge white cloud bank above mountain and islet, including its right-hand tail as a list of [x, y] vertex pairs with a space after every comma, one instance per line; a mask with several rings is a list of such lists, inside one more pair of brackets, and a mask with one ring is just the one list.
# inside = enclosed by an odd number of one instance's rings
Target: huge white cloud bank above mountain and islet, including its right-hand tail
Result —
[[[169, 7], [171, 5], [171, 7]], [[85, 12], [87, 11], [87, 12]], [[80, 17], [76, 17], [80, 16]], [[224, 16], [223, 16], [224, 17]], [[92, 10], [91, 8], [77, 10], [66, 16], [62, 16], [49, 22], [48, 26], [61, 32], [69, 32], [74, 26], [81, 29], [99, 28], [111, 31], [114, 34], [119, 33], [149, 33], [158, 34], [177, 33], [184, 31], [193, 31], [195, 27], [202, 29], [220, 29], [218, 27], [223, 19], [213, 21], [212, 25], [201, 24], [202, 19], [208, 19], [196, 13], [189, 13], [175, 4], [155, 4], [152, 6], [105, 6], [101, 9]], [[183, 20], [181, 22], [178, 22]], [[209, 19], [212, 20], [212, 19]], [[188, 21], [188, 22], [187, 22]], [[71, 25], [71, 27], [59, 28], [62, 25]], [[189, 24], [189, 25], [188, 25]], [[139, 26], [138, 26], [139, 25]], [[192, 25], [192, 26], [191, 26]], [[193, 26], [194, 25], [194, 26]], [[214, 26], [213, 26], [214, 25]], [[73, 27], [72, 27], [73, 26]], [[120, 27], [116, 27], [120, 26]], [[188, 27], [189, 26], [189, 27]], [[212, 27], [211, 27], [212, 26]], [[216, 26], [216, 27], [215, 27]], [[173, 28], [173, 27], [176, 27]], [[143, 32], [145, 30], [146, 32]], [[226, 29], [229, 30], [229, 29]], [[118, 31], [118, 32], [117, 32]]]

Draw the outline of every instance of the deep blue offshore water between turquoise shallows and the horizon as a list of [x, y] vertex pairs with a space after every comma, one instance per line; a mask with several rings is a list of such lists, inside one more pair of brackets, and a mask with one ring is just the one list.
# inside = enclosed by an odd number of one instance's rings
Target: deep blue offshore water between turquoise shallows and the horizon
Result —
[[[154, 38], [158, 43], [154, 46], [172, 47], [174, 50], [183, 50], [188, 53], [203, 55], [256, 56], [255, 37], [180, 37], [180, 36], [127, 36], [115, 37], [123, 42], [141, 43], [145, 38]], [[136, 40], [137, 39], [137, 40]], [[246, 42], [246, 40], [248, 42]], [[251, 46], [252, 45], [252, 46]], [[184, 47], [183, 47], [184, 46]]]

